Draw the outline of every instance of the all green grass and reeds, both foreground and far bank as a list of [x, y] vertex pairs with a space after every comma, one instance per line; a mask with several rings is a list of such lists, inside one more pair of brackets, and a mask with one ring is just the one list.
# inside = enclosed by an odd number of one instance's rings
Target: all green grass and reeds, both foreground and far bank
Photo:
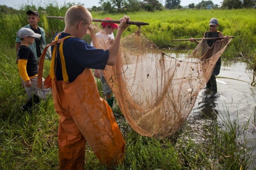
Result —
[[[242, 52], [250, 58], [255, 53], [253, 50], [256, 44], [254, 11], [174, 10], [127, 15], [132, 20], [150, 23], [149, 26], [142, 27], [142, 33], [157, 46], [187, 49], [193, 49], [195, 44], [174, 44], [170, 39], [200, 38], [207, 30], [208, 20], [216, 17], [224, 35], [236, 36], [225, 54], [235, 57], [237, 52]], [[45, 28], [50, 42], [55, 32], [63, 30], [64, 23], [61, 20], [46, 19], [45, 16], [64, 16], [65, 11], [49, 7], [47, 12], [49, 13], [41, 15], [40, 25]], [[94, 18], [122, 17], [122, 14], [92, 15]], [[27, 24], [25, 12], [14, 15], [0, 14], [0, 17], [0, 169], [58, 169], [59, 116], [54, 111], [52, 98], [42, 101], [32, 113], [22, 112], [20, 109], [27, 96], [20, 85], [14, 46], [15, 33]], [[134, 30], [135, 26], [131, 26], [125, 35]], [[88, 36], [85, 39], [89, 41]], [[49, 71], [48, 60], [45, 70], [44, 77], [47, 70]], [[117, 106], [114, 110], [119, 111]], [[122, 116], [117, 116], [117, 120], [120, 117]], [[119, 126], [128, 125], [121, 122]], [[252, 162], [250, 155], [253, 147], [246, 147], [246, 140], [237, 140], [243, 138], [247, 126], [248, 124], [244, 124], [241, 127], [238, 121], [223, 116], [223, 122], [213, 122], [212, 127], [206, 129], [209, 133], [205, 135], [204, 142], [194, 140], [191, 132], [185, 130], [159, 140], [143, 137], [133, 130], [125, 131], [126, 155], [123, 165], [116, 169], [247, 169]], [[105, 169], [89, 146], [86, 149], [85, 161], [86, 169]]]

